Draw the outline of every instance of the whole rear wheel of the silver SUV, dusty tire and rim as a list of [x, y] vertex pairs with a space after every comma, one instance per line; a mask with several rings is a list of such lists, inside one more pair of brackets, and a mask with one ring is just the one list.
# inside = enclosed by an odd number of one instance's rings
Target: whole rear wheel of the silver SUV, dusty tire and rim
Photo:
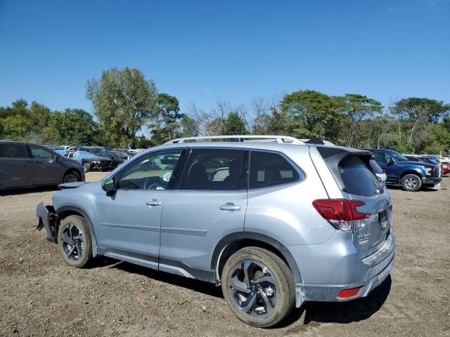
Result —
[[293, 275], [281, 258], [266, 249], [236, 251], [224, 265], [221, 286], [233, 313], [252, 326], [274, 326], [294, 307]]

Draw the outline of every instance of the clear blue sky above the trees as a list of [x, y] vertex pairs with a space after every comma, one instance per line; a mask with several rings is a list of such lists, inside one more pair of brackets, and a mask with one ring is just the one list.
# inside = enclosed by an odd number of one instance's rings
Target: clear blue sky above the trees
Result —
[[92, 112], [86, 80], [110, 67], [183, 112], [304, 89], [450, 103], [450, 0], [0, 0], [0, 106]]

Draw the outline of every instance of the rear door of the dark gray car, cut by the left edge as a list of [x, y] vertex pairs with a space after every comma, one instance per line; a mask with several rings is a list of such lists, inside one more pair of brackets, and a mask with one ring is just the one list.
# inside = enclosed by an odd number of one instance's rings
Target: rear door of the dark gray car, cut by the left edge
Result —
[[33, 185], [33, 161], [25, 145], [0, 144], [0, 186], [4, 188]]

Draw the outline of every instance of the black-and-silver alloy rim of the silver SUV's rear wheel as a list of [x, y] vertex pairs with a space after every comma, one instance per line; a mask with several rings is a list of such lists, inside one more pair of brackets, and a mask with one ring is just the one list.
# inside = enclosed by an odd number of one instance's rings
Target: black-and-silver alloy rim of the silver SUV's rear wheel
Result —
[[269, 269], [254, 260], [238, 263], [229, 277], [233, 305], [251, 316], [266, 316], [277, 303], [276, 280]]

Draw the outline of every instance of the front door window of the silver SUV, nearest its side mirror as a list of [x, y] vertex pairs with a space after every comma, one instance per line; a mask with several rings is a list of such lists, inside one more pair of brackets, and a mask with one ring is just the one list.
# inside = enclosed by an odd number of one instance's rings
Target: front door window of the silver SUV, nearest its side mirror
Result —
[[183, 149], [154, 152], [120, 171], [118, 190], [167, 190]]

